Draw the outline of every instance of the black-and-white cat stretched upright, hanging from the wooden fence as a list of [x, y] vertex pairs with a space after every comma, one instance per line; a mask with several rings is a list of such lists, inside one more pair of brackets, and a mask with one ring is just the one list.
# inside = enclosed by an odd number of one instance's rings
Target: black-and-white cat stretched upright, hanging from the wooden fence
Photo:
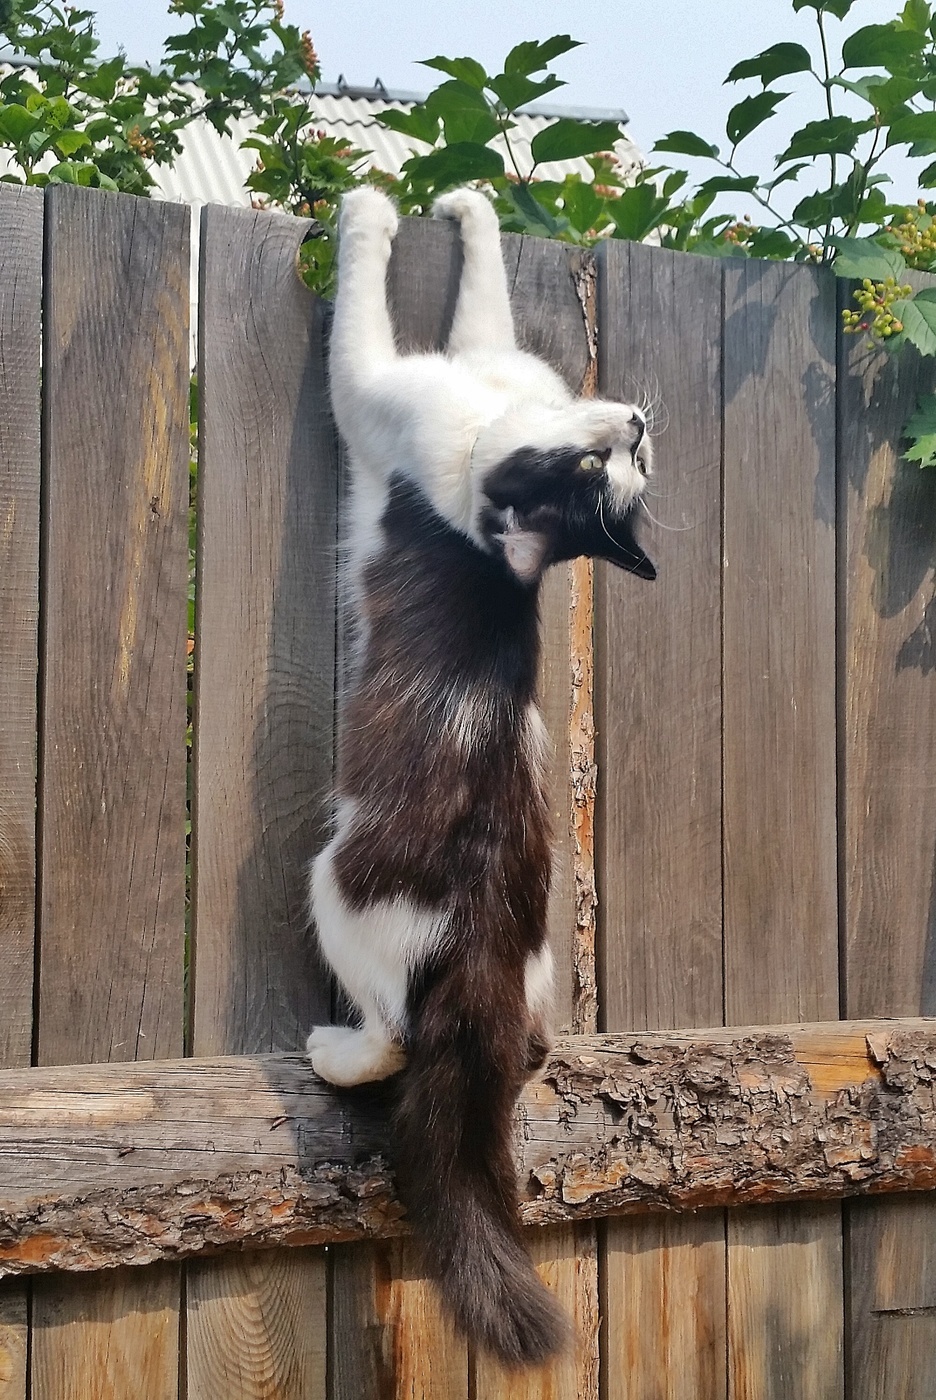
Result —
[[306, 1053], [339, 1086], [404, 1071], [396, 1169], [427, 1266], [460, 1330], [522, 1365], [568, 1331], [523, 1247], [512, 1147], [553, 984], [537, 592], [579, 554], [655, 577], [634, 532], [651, 444], [638, 409], [576, 399], [518, 349], [488, 199], [458, 189], [434, 214], [460, 225], [452, 332], [445, 354], [404, 356], [396, 209], [361, 188], [340, 213], [353, 643], [311, 907], [360, 1025], [316, 1026]]

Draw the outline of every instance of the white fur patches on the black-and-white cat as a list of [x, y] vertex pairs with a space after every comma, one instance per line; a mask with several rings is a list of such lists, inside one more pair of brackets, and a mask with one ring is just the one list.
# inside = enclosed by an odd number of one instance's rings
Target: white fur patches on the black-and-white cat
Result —
[[[390, 200], [362, 188], [344, 196], [340, 221], [339, 295], [330, 349], [332, 402], [348, 447], [347, 587], [357, 595], [361, 570], [381, 549], [381, 518], [395, 473], [418, 482], [439, 515], [490, 547], [480, 529], [485, 473], [519, 448], [574, 444], [607, 454], [606, 475], [621, 507], [644, 489], [649, 441], [635, 459], [644, 420], [630, 405], [576, 399], [541, 360], [518, 349], [501, 256], [497, 217], [476, 190], [455, 190], [437, 217], [460, 223], [465, 266], [445, 354], [402, 356], [386, 305], [386, 266], [397, 228]], [[639, 466], [638, 466], [639, 461]], [[508, 524], [504, 553], [520, 578], [539, 574], [537, 536]], [[361, 644], [364, 638], [358, 638]], [[418, 700], [420, 697], [414, 697]], [[445, 706], [445, 697], [423, 696]], [[483, 742], [484, 697], [445, 715], [465, 742]], [[527, 720], [530, 746], [543, 750], [539, 713]], [[406, 900], [358, 913], [347, 907], [333, 875], [351, 813], [339, 812], [333, 841], [313, 862], [311, 904], [322, 949], [357, 1002], [358, 1029], [319, 1026], [308, 1054], [323, 1078], [351, 1085], [402, 1067], [407, 976], [445, 938], [445, 920]], [[529, 959], [527, 1004], [541, 1016], [550, 1002], [553, 959]]]

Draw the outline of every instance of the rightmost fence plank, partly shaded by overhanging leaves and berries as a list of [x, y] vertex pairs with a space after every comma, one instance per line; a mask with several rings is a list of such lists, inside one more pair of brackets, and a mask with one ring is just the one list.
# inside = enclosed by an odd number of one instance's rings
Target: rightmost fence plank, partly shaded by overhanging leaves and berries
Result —
[[[936, 473], [900, 459], [932, 361], [841, 337], [845, 1014], [936, 1015]], [[853, 1400], [936, 1394], [936, 1200], [848, 1207]], [[895, 1292], [893, 1284], [904, 1287]], [[851, 1400], [851, 1397], [849, 1397]]]

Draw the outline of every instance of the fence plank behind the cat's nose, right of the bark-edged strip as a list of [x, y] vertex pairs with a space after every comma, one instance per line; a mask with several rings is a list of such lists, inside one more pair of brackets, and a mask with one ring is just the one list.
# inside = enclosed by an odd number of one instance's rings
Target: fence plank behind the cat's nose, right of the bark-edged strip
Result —
[[[607, 1030], [722, 1019], [721, 307], [718, 263], [603, 249], [602, 392], [658, 400], [648, 504], [674, 526], [645, 529], [653, 584], [596, 570]], [[723, 1214], [609, 1221], [603, 1275], [609, 1400], [723, 1400]]]

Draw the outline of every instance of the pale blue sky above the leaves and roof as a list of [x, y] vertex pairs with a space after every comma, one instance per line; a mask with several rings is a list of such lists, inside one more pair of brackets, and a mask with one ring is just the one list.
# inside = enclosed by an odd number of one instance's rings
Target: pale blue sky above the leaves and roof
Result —
[[[87, 8], [98, 14], [104, 48], [120, 46], [134, 60], [157, 59], [164, 35], [179, 28], [164, 0], [87, 0]], [[893, 20], [901, 8], [902, 0], [855, 0], [845, 21], [827, 20], [832, 45], [863, 24]], [[723, 87], [729, 69], [781, 41], [817, 49], [814, 11], [796, 14], [792, 0], [509, 0], [501, 6], [491, 0], [285, 0], [285, 17], [311, 31], [326, 81], [344, 74], [353, 84], [369, 84], [379, 77], [390, 88], [411, 91], [428, 91], [435, 83], [432, 70], [421, 69], [417, 59], [470, 55], [488, 71], [499, 71], [499, 62], [519, 41], [571, 34], [585, 46], [553, 64], [568, 87], [551, 101], [623, 108], [645, 154], [674, 129], [694, 130], [723, 148], [729, 108], [760, 91], [758, 80]], [[793, 95], [739, 147], [746, 174], [765, 174], [797, 126], [825, 116], [823, 92], [809, 74], [781, 78], [774, 88]], [[838, 105], [842, 112], [856, 109], [848, 99]], [[707, 162], [683, 157], [667, 162], [688, 164], [701, 178], [715, 174]], [[915, 200], [912, 169], [925, 164], [893, 160], [888, 197]]]

